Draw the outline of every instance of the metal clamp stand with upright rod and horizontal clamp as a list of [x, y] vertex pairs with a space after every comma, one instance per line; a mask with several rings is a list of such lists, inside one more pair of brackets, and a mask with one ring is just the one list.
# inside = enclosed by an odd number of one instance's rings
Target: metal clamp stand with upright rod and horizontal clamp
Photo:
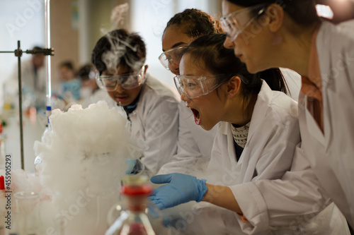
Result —
[[[21, 43], [17, 41], [17, 49], [13, 52], [0, 52], [0, 53], [14, 53], [18, 57], [18, 110], [20, 112], [20, 142], [21, 142], [21, 168], [25, 169], [25, 161], [23, 156], [23, 114], [22, 114], [22, 78], [21, 78]], [[26, 50], [26, 54], [44, 54], [45, 56], [54, 56], [54, 49], [33, 49]]]

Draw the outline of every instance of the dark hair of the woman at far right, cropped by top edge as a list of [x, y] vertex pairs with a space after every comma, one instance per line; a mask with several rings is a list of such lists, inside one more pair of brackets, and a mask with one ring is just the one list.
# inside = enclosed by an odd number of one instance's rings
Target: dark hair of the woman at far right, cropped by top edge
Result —
[[[316, 4], [314, 0], [227, 0], [232, 4], [239, 6], [256, 6], [258, 4], [278, 4], [284, 8], [284, 11], [289, 14], [290, 18], [299, 25], [310, 25], [319, 21], [319, 16], [316, 11]], [[258, 9], [259, 11], [259, 9]], [[253, 11], [256, 16], [257, 11]]]

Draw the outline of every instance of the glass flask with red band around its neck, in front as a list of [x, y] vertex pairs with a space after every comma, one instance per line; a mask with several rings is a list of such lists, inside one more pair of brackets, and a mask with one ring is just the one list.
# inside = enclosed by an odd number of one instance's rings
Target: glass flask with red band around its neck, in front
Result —
[[[122, 179], [122, 205], [115, 205], [108, 213], [108, 222], [118, 216], [105, 235], [155, 235], [163, 228], [159, 212], [153, 211], [148, 196], [152, 186], [145, 176], [127, 176]], [[124, 203], [125, 202], [125, 203]]]

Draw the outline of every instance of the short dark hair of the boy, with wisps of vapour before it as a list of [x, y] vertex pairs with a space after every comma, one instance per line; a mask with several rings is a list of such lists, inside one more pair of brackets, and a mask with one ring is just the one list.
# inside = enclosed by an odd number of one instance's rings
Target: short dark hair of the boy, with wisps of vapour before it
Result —
[[135, 72], [144, 64], [146, 55], [142, 37], [120, 29], [108, 32], [98, 40], [91, 61], [100, 74], [117, 66]]

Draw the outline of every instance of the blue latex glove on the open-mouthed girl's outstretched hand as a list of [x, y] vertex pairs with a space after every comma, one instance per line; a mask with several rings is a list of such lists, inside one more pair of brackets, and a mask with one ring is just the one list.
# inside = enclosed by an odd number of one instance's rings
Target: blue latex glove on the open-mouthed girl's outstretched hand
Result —
[[195, 200], [198, 203], [207, 192], [205, 179], [197, 179], [186, 174], [164, 174], [152, 176], [152, 183], [167, 183], [154, 189], [149, 197], [160, 209], [165, 209]]

